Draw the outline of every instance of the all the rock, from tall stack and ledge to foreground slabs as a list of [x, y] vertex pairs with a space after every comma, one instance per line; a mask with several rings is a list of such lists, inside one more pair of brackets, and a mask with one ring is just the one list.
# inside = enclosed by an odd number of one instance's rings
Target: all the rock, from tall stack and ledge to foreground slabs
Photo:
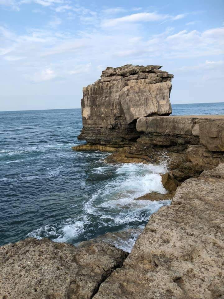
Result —
[[[224, 116], [168, 116], [172, 74], [161, 66], [107, 68], [83, 89], [86, 144], [109, 163], [168, 163], [171, 199], [131, 253], [103, 238], [78, 247], [28, 238], [0, 247], [0, 299], [224, 298]], [[126, 232], [129, 234], [129, 232]]]

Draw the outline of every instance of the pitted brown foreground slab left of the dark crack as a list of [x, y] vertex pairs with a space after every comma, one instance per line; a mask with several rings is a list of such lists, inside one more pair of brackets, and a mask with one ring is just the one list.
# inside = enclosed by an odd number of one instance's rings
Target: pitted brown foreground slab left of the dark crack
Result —
[[98, 242], [76, 248], [28, 238], [0, 247], [1, 299], [89, 299], [127, 253]]

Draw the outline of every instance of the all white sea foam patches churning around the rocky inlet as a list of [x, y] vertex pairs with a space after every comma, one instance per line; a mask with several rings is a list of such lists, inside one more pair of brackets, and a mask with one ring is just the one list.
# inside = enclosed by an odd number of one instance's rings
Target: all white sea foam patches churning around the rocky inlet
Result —
[[[97, 154], [97, 153], [96, 153]], [[58, 175], [60, 169], [50, 170], [48, 174]], [[152, 213], [161, 206], [170, 204], [170, 200], [163, 202], [152, 202], [148, 200], [135, 200], [146, 193], [159, 192], [166, 193], [166, 189], [161, 183], [159, 173], [166, 173], [166, 163], [153, 164], [103, 164], [93, 169], [92, 173], [107, 176], [115, 173], [113, 180], [105, 180], [90, 198], [86, 194], [86, 202], [83, 206], [83, 215], [72, 219], [67, 219], [59, 224], [44, 226], [34, 230], [29, 236], [50, 237], [55, 242], [74, 242], [80, 236], [91, 235], [90, 229], [94, 229], [93, 222], [96, 221], [98, 229], [109, 230], [111, 227], [132, 227], [147, 223]], [[70, 205], [72, 208], [73, 205]], [[74, 206], [75, 207], [75, 206]], [[92, 219], [92, 220], [90, 220]], [[93, 220], [95, 219], [95, 220]], [[92, 223], [92, 225], [91, 225]], [[124, 249], [131, 250], [139, 232], [130, 236], [127, 240], [122, 237], [116, 242], [110, 243]], [[115, 243], [116, 244], [115, 244]]]

